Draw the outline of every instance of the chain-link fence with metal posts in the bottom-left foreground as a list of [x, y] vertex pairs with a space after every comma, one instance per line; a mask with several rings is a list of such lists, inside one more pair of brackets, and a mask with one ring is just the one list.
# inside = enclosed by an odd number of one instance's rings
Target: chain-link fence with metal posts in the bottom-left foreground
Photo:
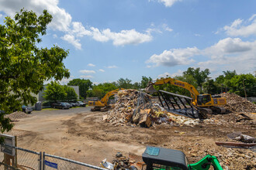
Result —
[[[4, 152], [10, 152], [6, 154]], [[14, 154], [12, 154], [14, 151]], [[11, 154], [11, 155], [10, 155]], [[13, 156], [12, 156], [13, 155]], [[0, 170], [6, 169], [32, 169], [32, 170], [50, 170], [50, 169], [99, 169], [106, 170], [95, 165], [89, 165], [84, 162], [77, 162], [68, 158], [62, 158], [56, 155], [46, 154], [44, 151], [36, 152], [28, 149], [14, 147], [10, 145], [1, 145], [0, 152]]]

